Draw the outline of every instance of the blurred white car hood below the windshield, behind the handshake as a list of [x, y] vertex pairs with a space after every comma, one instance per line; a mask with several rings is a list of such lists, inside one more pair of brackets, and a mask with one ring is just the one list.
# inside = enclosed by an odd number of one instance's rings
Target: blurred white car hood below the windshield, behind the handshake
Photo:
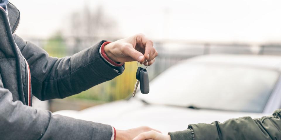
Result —
[[62, 110], [54, 112], [54, 114], [109, 124], [116, 129], [149, 126], [160, 130], [162, 133], [184, 130], [189, 124], [193, 123], [211, 123], [216, 120], [224, 122], [230, 118], [239, 118], [242, 116], [260, 118], [265, 115], [271, 115], [147, 105], [136, 98], [114, 101], [81, 111]]

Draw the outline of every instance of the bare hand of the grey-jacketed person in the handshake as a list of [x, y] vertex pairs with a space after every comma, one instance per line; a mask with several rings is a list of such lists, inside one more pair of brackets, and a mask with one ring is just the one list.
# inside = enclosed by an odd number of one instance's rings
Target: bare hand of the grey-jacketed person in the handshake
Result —
[[116, 140], [132, 140], [138, 134], [148, 131], [155, 131], [161, 134], [161, 132], [156, 129], [152, 129], [147, 126], [141, 126], [128, 130], [116, 130]]

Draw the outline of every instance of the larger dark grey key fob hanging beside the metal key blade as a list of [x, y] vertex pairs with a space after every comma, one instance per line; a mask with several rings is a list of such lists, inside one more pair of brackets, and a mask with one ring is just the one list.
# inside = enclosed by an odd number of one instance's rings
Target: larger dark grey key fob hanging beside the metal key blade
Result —
[[140, 92], [142, 94], [148, 94], [149, 93], [149, 79], [148, 79], [147, 70], [141, 69], [138, 78], [140, 80]]

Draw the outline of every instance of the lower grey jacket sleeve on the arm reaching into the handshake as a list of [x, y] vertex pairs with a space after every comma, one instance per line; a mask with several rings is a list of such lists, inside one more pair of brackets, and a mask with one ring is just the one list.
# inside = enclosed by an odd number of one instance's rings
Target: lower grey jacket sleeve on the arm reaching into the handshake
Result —
[[112, 136], [110, 125], [52, 115], [50, 111], [36, 110], [20, 101], [12, 101], [12, 94], [3, 88], [1, 79], [0, 106], [1, 140], [110, 140]]

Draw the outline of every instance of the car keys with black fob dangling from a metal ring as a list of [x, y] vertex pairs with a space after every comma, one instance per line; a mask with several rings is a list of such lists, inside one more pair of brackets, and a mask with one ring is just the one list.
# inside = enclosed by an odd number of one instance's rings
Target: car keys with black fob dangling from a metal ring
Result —
[[[135, 97], [137, 88], [138, 88], [138, 84], [140, 84], [140, 92], [142, 94], [148, 94], [149, 93], [149, 79], [148, 79], [148, 72], [147, 72], [147, 67], [148, 67], [148, 61], [146, 61], [147, 66], [145, 68], [142, 67], [138, 67], [137, 72], [136, 72], [136, 79], [137, 82], [135, 84], [135, 89], [133, 92], [133, 97]], [[139, 62], [138, 62], [139, 63]], [[138, 66], [137, 63], [137, 66]]]

